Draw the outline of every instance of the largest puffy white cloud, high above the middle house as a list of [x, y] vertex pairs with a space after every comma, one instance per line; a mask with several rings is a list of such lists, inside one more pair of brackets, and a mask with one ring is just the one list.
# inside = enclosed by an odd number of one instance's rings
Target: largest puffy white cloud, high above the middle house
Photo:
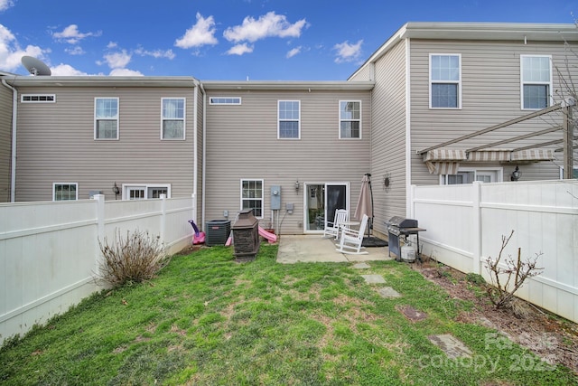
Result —
[[283, 14], [269, 12], [257, 20], [247, 16], [243, 24], [228, 27], [223, 36], [229, 42], [256, 42], [267, 37], [299, 37], [306, 26], [308, 24], [305, 19], [290, 24]]

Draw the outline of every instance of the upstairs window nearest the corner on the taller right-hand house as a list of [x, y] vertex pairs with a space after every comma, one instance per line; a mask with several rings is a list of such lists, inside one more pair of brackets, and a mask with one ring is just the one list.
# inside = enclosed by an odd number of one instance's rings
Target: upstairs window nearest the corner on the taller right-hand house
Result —
[[460, 54], [430, 54], [430, 108], [461, 108]]

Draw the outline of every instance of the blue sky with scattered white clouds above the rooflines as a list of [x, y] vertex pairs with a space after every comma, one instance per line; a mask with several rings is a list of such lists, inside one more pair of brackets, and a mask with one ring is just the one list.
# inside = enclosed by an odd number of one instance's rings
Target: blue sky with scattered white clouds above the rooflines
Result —
[[346, 80], [407, 22], [572, 24], [578, 0], [0, 0], [0, 71]]

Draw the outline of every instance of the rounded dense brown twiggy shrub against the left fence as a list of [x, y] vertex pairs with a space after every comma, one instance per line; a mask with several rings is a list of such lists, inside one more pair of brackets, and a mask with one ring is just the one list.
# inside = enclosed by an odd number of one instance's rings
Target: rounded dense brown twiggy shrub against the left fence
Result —
[[112, 242], [98, 240], [104, 259], [100, 261], [97, 278], [112, 287], [140, 283], [154, 276], [169, 262], [159, 236], [148, 231], [126, 231], [123, 237], [115, 231]]

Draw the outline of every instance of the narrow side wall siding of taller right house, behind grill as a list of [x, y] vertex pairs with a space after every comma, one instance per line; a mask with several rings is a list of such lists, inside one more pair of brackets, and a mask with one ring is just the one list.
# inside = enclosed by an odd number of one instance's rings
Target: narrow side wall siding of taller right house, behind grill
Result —
[[[371, 174], [374, 230], [386, 233], [384, 221], [406, 216], [406, 43], [400, 42], [376, 63], [373, 89]], [[391, 181], [386, 190], [383, 180]]]

